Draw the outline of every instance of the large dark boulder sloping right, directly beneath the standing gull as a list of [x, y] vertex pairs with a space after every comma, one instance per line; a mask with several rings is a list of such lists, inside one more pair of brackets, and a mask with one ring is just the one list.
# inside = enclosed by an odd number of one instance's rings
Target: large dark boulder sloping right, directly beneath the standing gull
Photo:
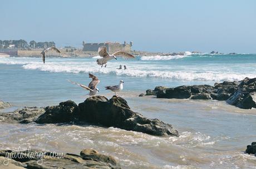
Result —
[[104, 96], [93, 96], [80, 103], [80, 119], [86, 122], [99, 123], [120, 129], [144, 132], [150, 135], [178, 136], [178, 131], [170, 124], [158, 119], [147, 119], [134, 112], [125, 99], [113, 96], [110, 100]]

